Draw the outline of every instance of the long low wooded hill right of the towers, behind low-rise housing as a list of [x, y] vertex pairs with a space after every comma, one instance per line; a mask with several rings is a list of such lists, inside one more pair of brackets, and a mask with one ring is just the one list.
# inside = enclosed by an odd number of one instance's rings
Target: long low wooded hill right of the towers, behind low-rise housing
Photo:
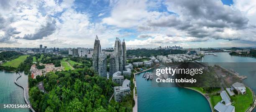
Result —
[[157, 55], [169, 55], [169, 54], [180, 54], [180, 53], [187, 53], [187, 51], [183, 50], [165, 50], [165, 49], [159, 49], [159, 50], [153, 50], [153, 49], [136, 49], [136, 50], [127, 50], [127, 56], [157, 56]]

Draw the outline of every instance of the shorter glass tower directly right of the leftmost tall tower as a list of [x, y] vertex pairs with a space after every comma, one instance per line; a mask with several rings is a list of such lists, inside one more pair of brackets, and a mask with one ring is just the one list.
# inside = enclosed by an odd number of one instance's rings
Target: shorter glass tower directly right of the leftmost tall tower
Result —
[[98, 67], [99, 67], [98, 74], [100, 76], [106, 77], [107, 76], [107, 56], [105, 55], [105, 53], [100, 54]]

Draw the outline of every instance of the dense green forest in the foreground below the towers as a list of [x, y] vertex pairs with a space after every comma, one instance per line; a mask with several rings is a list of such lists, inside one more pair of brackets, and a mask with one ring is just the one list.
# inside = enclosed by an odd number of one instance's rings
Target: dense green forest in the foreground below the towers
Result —
[[[46, 93], [36, 87], [40, 81], [44, 82]], [[38, 112], [132, 112], [132, 107], [123, 103], [131, 101], [132, 95], [121, 103], [108, 102], [113, 86], [116, 84], [98, 76], [93, 69], [49, 72], [44, 77], [29, 77], [30, 102]]]

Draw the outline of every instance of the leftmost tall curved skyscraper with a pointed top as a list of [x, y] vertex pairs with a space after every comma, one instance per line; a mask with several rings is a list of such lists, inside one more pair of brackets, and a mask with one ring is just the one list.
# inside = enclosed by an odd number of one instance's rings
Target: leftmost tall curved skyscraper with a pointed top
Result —
[[100, 57], [100, 40], [98, 36], [95, 38], [93, 54], [92, 54], [92, 66], [95, 71], [99, 69], [99, 57]]

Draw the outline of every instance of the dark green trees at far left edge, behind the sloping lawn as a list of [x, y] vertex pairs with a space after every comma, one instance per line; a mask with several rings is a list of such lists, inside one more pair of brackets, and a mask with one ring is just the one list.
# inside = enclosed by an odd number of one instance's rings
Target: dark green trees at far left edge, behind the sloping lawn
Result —
[[0, 61], [9, 61], [12, 59], [16, 59], [19, 56], [21, 56], [22, 53], [16, 52], [16, 51], [3, 51], [0, 53]]

